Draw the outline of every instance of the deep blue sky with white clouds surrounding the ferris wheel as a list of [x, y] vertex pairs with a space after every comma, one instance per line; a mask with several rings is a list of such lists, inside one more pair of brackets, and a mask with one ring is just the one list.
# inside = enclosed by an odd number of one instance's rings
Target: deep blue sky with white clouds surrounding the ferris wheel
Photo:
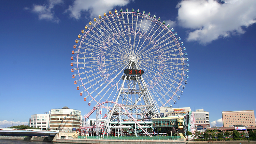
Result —
[[110, 10], [139, 9], [167, 21], [189, 58], [186, 90], [174, 107], [204, 109], [212, 126], [222, 111], [255, 110], [254, 0], [27, 0], [0, 5], [0, 127], [28, 124], [32, 114], [92, 107], [73, 84], [77, 35]]

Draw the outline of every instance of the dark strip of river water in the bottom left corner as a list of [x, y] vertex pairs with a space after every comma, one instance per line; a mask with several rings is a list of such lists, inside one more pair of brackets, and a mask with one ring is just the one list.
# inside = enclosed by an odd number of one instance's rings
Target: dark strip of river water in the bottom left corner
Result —
[[3, 139], [0, 139], [0, 144], [70, 144], [70, 143], [52, 143], [52, 142], [41, 142], [41, 141], [3, 140]]

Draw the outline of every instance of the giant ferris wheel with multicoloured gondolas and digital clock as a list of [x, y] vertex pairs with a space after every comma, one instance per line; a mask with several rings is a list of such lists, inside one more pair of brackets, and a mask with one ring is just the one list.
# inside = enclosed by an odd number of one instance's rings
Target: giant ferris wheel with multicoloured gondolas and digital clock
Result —
[[[151, 105], [157, 115], [160, 107], [172, 108], [183, 95], [189, 72], [186, 48], [160, 17], [133, 9], [110, 11], [90, 21], [78, 38], [71, 72], [88, 105], [113, 101], [129, 110]], [[138, 109], [132, 115], [146, 111]], [[150, 110], [146, 113], [153, 116]]]

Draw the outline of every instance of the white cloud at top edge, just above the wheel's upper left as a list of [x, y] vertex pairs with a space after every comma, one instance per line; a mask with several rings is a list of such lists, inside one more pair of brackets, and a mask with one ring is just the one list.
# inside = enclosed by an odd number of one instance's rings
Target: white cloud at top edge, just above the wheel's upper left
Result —
[[115, 6], [125, 6], [129, 2], [130, 0], [75, 0], [66, 12], [70, 12], [70, 17], [75, 19], [80, 19], [82, 12], [89, 12], [90, 18], [93, 18], [108, 13]]

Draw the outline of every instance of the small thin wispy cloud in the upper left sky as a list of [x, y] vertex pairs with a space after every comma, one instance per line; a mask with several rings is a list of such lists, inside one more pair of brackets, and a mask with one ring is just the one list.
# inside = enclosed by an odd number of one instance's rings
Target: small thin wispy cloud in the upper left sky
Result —
[[31, 10], [32, 12], [38, 14], [39, 20], [45, 19], [53, 21], [55, 23], [59, 23], [60, 19], [55, 16], [54, 7], [61, 3], [63, 3], [62, 0], [48, 0], [47, 3], [43, 5], [34, 4], [32, 6], [32, 9], [29, 9], [27, 7], [25, 7], [24, 9]]

